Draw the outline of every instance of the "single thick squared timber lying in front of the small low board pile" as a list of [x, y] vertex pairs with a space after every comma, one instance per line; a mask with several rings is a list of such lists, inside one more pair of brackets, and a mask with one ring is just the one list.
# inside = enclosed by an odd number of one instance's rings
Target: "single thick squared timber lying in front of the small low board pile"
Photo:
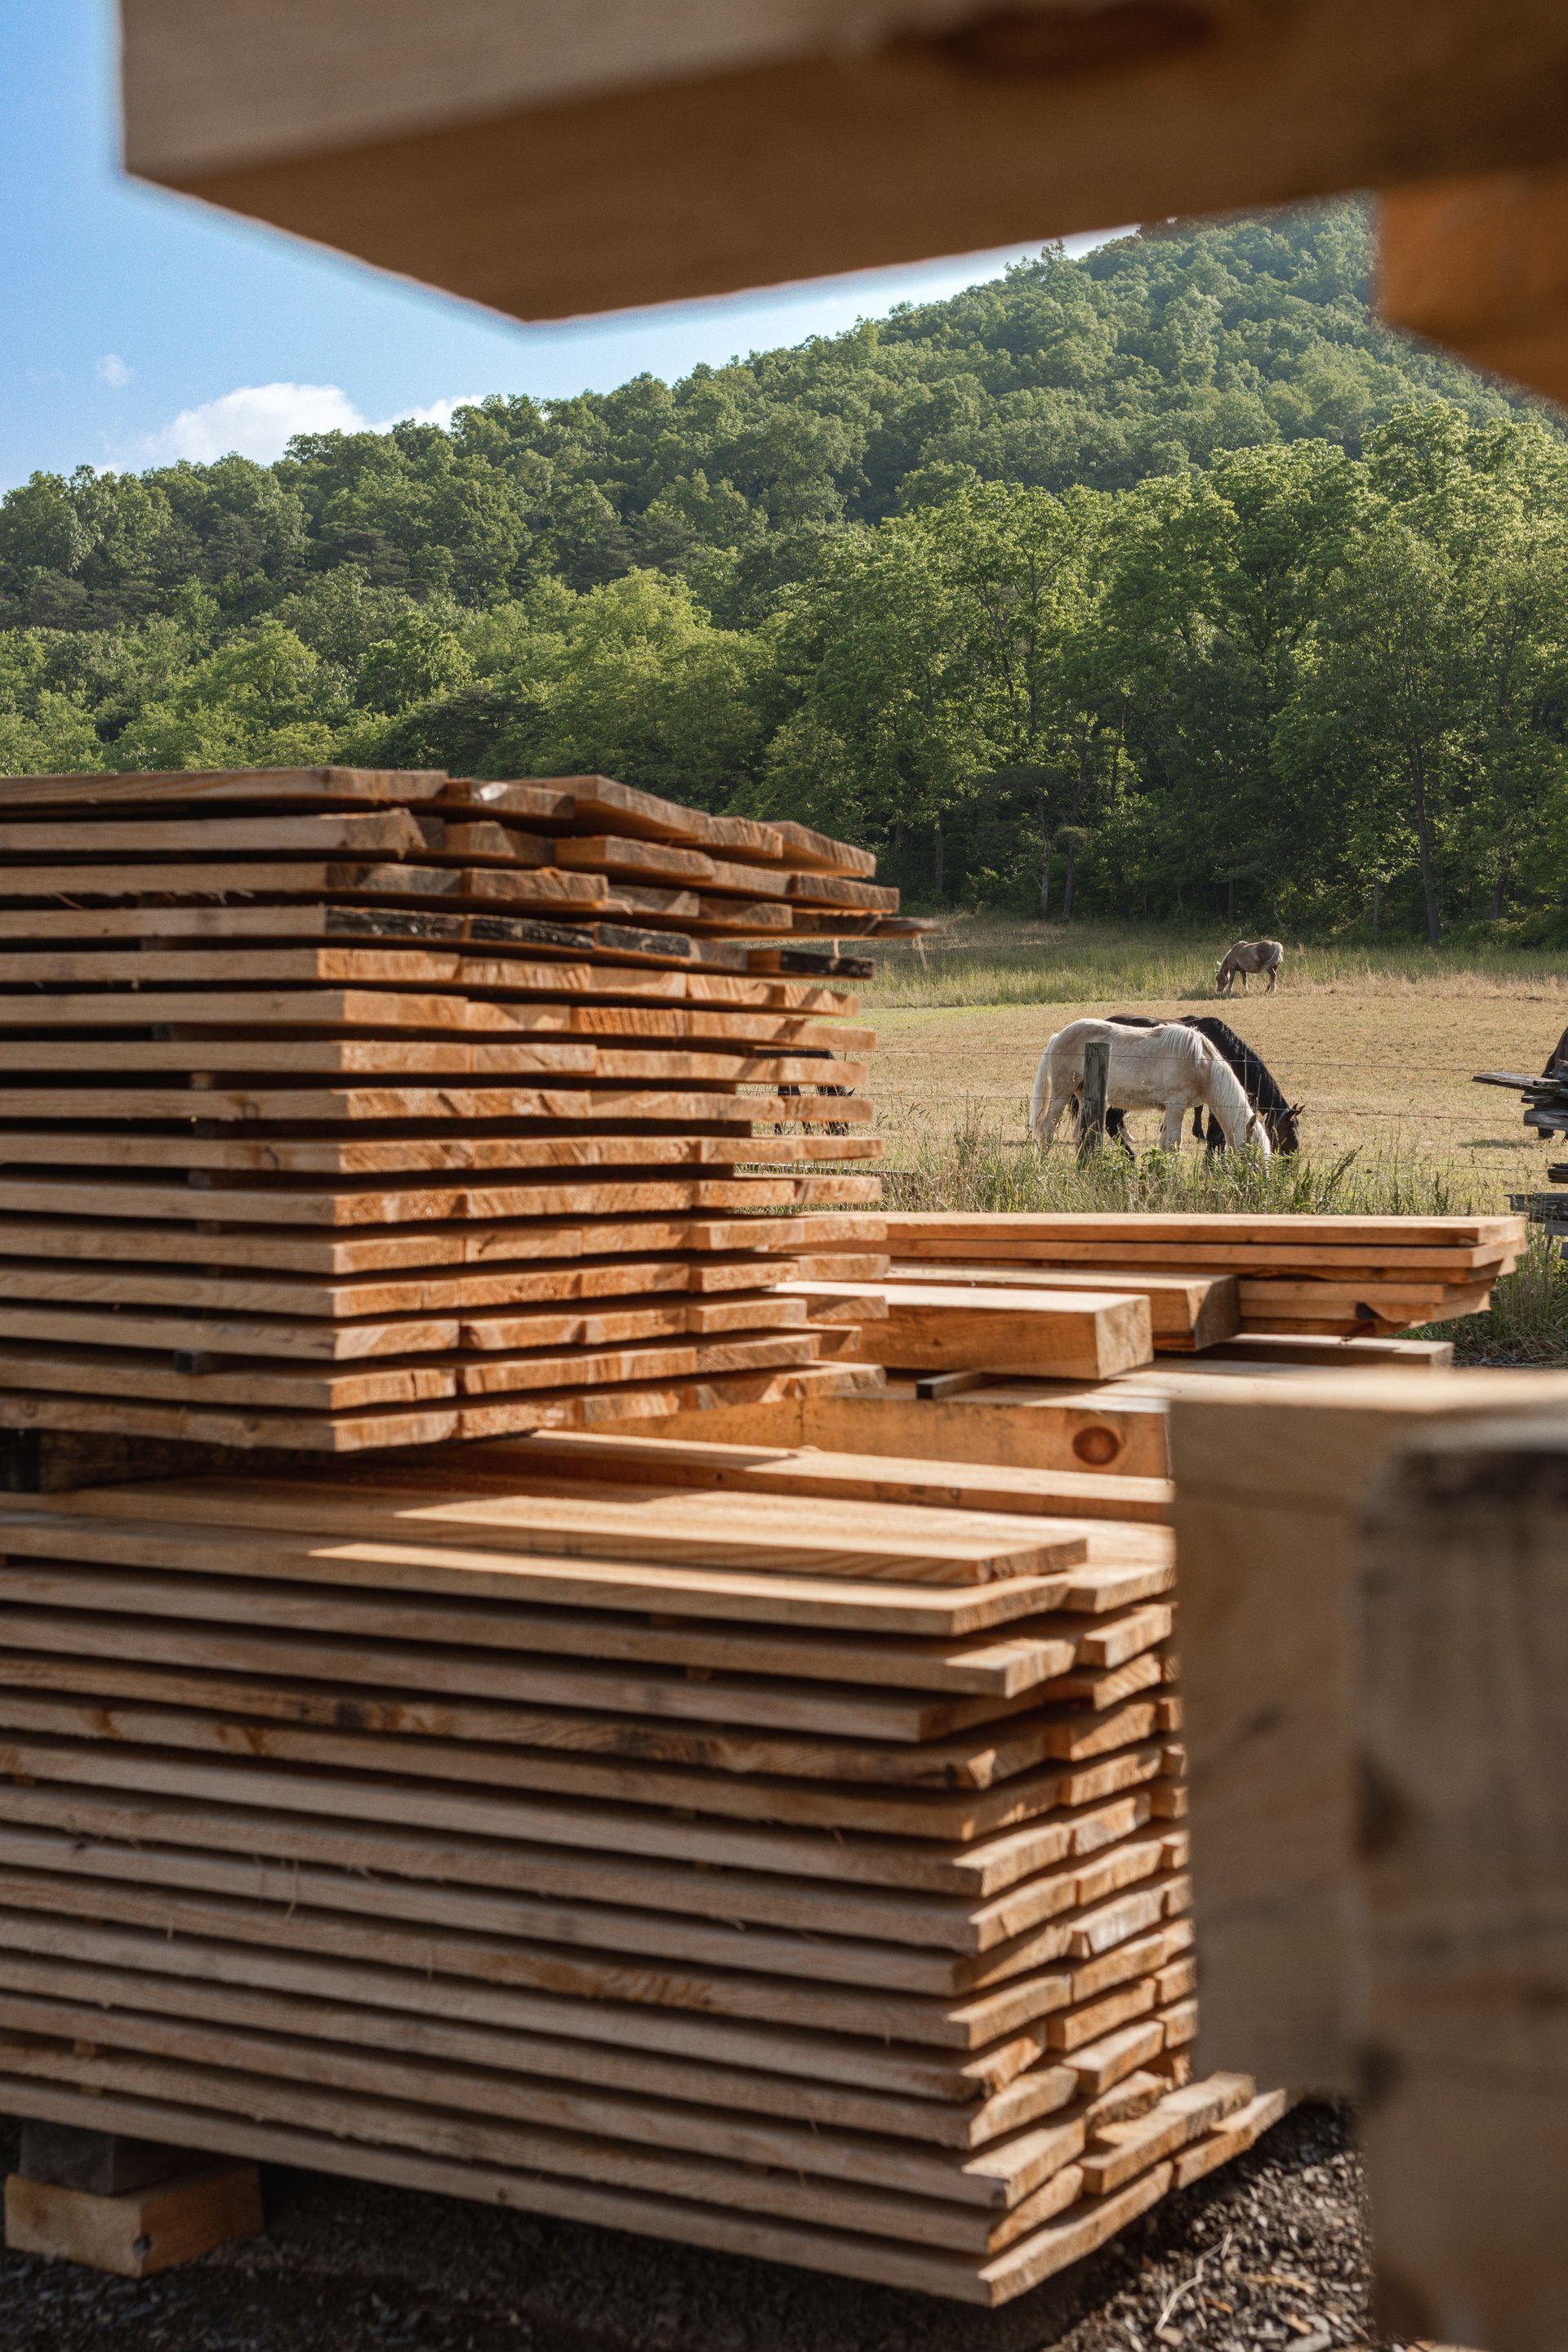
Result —
[[[823, 1284], [790, 1284], [820, 1296]], [[969, 1284], [846, 1284], [886, 1301], [886, 1319], [865, 1324], [872, 1362], [931, 1371], [1051, 1371], [1105, 1381], [1154, 1355], [1147, 1298], [1112, 1291], [985, 1291]]]

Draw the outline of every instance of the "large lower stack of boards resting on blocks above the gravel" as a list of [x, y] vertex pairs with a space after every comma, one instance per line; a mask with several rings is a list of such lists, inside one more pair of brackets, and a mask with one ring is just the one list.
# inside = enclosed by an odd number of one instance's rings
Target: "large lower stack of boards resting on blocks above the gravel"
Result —
[[983, 2305], [1251, 2145], [1157, 1510], [712, 1456], [12, 1498], [0, 2110]]

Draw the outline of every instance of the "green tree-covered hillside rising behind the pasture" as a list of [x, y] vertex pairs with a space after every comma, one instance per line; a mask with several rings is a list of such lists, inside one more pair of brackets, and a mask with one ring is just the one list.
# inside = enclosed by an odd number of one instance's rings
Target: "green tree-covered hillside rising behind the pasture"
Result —
[[597, 767], [922, 901], [1537, 924], [1568, 445], [1385, 334], [1356, 207], [851, 334], [0, 503], [0, 769]]

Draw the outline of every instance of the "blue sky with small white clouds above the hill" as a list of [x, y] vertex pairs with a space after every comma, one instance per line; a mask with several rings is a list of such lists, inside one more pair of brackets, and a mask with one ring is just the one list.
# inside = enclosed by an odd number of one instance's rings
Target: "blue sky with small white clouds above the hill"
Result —
[[110, 0], [0, 0], [0, 489], [78, 463], [235, 447], [270, 459], [292, 430], [444, 423], [484, 393], [679, 376], [950, 294], [1013, 259], [517, 327], [122, 179]]

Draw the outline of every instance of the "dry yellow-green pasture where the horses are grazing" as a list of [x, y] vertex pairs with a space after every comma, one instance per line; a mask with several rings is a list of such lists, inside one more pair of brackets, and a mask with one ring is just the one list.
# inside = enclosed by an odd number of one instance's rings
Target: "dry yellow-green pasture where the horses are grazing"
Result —
[[[860, 1004], [879, 1037], [889, 1204], [1453, 1214], [1547, 1188], [1549, 1152], [1519, 1096], [1472, 1077], [1542, 1068], [1568, 1025], [1568, 955], [1286, 941], [1276, 993], [1255, 983], [1227, 1002], [1213, 990], [1227, 943], [954, 917], [924, 955], [882, 950]], [[1135, 1164], [1114, 1150], [1079, 1164], [1065, 1129], [1048, 1155], [1027, 1145], [1034, 1063], [1053, 1030], [1084, 1014], [1201, 1009], [1222, 1011], [1307, 1105], [1298, 1157], [1265, 1167], [1187, 1138], [1173, 1162], [1145, 1148], [1154, 1112], [1131, 1120]], [[1453, 1336], [1493, 1362], [1568, 1362], [1561, 1256], [1535, 1242], [1493, 1315]]]

